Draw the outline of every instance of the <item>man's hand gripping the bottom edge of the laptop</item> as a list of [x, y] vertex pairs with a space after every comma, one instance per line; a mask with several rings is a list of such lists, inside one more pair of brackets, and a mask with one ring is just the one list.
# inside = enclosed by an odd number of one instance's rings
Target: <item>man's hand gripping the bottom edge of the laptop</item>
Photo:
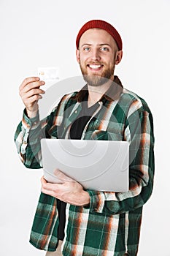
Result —
[[86, 192], [82, 185], [72, 178], [69, 178], [60, 170], [54, 171], [55, 176], [61, 179], [62, 184], [53, 184], [45, 180], [42, 181], [42, 192], [56, 197], [63, 202], [70, 203], [74, 206], [87, 206], [90, 203], [90, 195]]

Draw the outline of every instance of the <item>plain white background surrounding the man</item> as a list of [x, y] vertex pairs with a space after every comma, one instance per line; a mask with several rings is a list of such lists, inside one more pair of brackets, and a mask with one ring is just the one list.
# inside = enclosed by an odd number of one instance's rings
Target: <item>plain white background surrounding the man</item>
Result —
[[[139, 256], [170, 255], [169, 10], [169, 0], [0, 1], [2, 256], [45, 255], [28, 243], [42, 170], [26, 169], [15, 148], [14, 133], [23, 113], [18, 87], [36, 75], [37, 67], [60, 67], [61, 80], [81, 75], [75, 39], [93, 18], [107, 20], [120, 32], [123, 60], [115, 74], [147, 101], [154, 118], [155, 185], [144, 206]], [[56, 98], [63, 92], [58, 88]]]

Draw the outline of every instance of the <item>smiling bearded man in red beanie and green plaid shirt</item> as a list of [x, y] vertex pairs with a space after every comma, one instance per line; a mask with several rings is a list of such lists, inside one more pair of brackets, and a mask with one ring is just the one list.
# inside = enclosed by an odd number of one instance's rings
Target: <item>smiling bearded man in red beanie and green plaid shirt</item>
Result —
[[60, 255], [61, 250], [65, 256], [135, 256], [142, 206], [153, 186], [152, 113], [144, 99], [124, 89], [114, 75], [123, 50], [120, 34], [111, 24], [88, 21], [80, 29], [76, 45], [87, 84], [64, 95], [47, 118], [39, 121], [38, 111], [38, 101], [45, 93], [40, 86], [45, 82], [26, 78], [21, 84], [26, 109], [15, 133], [18, 154], [26, 167], [41, 168], [41, 138], [127, 140], [129, 191], [85, 190], [62, 170], [55, 170], [63, 184], [50, 184], [42, 177], [30, 242], [47, 250], [49, 256]]

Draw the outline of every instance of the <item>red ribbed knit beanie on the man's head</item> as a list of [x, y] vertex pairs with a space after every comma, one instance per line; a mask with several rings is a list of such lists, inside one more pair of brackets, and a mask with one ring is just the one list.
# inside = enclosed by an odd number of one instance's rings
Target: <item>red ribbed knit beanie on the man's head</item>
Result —
[[104, 20], [90, 20], [82, 26], [76, 39], [77, 49], [79, 48], [80, 37], [82, 37], [82, 34], [85, 33], [86, 30], [94, 28], [104, 29], [105, 31], [107, 31], [115, 39], [118, 49], [122, 50], [122, 39], [120, 37], [120, 34], [111, 24], [107, 23]]

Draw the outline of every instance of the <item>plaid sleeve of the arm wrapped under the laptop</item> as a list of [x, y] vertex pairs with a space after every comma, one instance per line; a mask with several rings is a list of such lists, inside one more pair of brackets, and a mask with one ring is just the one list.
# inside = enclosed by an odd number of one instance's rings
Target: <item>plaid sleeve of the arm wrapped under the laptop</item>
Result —
[[148, 108], [129, 110], [124, 140], [129, 142], [128, 192], [98, 192], [87, 190], [91, 212], [122, 214], [147, 202], [152, 194], [154, 178], [154, 135], [152, 113]]

